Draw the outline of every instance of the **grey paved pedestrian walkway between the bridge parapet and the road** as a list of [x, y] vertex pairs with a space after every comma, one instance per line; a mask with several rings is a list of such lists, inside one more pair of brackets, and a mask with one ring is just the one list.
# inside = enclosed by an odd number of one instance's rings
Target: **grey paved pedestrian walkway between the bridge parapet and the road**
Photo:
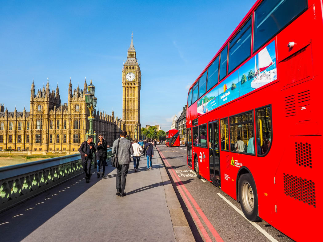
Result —
[[138, 172], [130, 163], [125, 197], [112, 166], [99, 179], [93, 169], [90, 183], [82, 174], [50, 189], [1, 214], [1, 241], [175, 241], [158, 153], [152, 166], [143, 156]]

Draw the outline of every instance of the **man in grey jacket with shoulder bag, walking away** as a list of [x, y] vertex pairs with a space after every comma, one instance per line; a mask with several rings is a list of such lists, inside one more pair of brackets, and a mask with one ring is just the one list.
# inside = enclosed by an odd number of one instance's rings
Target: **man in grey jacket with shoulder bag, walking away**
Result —
[[[120, 143], [119, 143], [119, 150], [118, 150], [118, 161], [119, 167], [117, 168], [117, 183], [116, 195], [120, 195], [120, 197], [124, 197], [127, 194], [124, 192], [124, 188], [126, 187], [126, 178], [129, 170], [129, 163], [131, 160], [131, 155], [133, 154], [133, 148], [130, 140], [126, 139], [127, 131], [122, 131], [120, 133]], [[116, 139], [112, 145], [112, 154], [117, 154], [118, 142], [119, 139]]]

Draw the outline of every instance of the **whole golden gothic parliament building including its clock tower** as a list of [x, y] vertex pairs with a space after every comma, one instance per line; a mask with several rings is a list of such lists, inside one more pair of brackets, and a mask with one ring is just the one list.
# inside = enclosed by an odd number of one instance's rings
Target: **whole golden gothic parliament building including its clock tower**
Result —
[[[122, 68], [122, 108], [123, 119], [111, 114], [94, 112], [93, 130], [101, 133], [112, 146], [122, 129], [127, 130], [130, 139], [140, 135], [140, 85], [141, 72], [136, 59], [136, 51], [131, 44], [126, 63]], [[68, 84], [68, 101], [61, 103], [58, 84], [56, 91], [47, 84], [35, 91], [34, 80], [30, 89], [30, 110], [8, 112], [0, 104], [0, 150], [15, 149], [28, 154], [78, 153], [78, 148], [89, 131], [89, 109], [85, 102], [87, 82], [84, 88], [72, 89]]]

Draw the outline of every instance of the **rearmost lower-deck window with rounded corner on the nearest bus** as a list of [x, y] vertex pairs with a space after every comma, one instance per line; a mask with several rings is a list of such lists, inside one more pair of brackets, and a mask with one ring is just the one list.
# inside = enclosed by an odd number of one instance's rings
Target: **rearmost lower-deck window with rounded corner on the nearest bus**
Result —
[[257, 154], [266, 155], [272, 142], [271, 106], [256, 109]]

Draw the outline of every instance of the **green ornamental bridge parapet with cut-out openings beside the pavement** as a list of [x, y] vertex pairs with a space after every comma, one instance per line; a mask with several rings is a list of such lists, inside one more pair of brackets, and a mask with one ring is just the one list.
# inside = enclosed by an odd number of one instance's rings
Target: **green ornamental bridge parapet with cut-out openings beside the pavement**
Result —
[[82, 172], [80, 154], [0, 167], [0, 213]]

